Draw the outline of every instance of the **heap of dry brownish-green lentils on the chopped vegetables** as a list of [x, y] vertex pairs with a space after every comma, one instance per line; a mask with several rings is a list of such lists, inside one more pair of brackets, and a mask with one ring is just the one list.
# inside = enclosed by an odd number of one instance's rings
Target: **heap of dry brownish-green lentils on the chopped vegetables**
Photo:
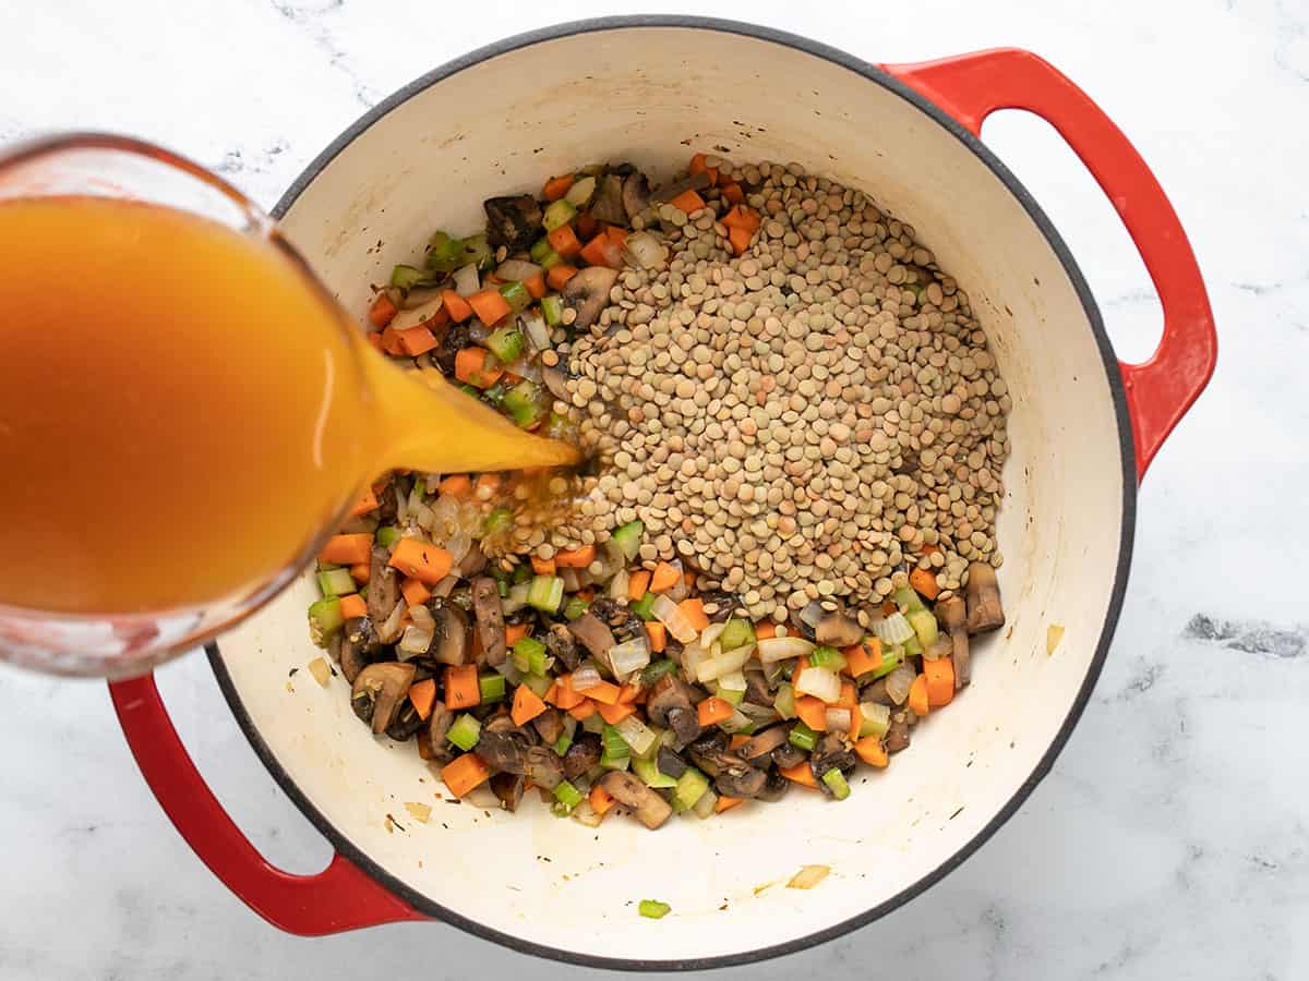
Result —
[[554, 408], [601, 467], [537, 555], [640, 519], [640, 559], [681, 559], [779, 623], [886, 596], [906, 566], [942, 590], [999, 566], [1012, 403], [967, 296], [863, 192], [796, 164], [711, 165], [761, 232], [733, 256], [715, 191], [636, 218], [669, 263], [622, 273], [559, 352], [572, 400]]

